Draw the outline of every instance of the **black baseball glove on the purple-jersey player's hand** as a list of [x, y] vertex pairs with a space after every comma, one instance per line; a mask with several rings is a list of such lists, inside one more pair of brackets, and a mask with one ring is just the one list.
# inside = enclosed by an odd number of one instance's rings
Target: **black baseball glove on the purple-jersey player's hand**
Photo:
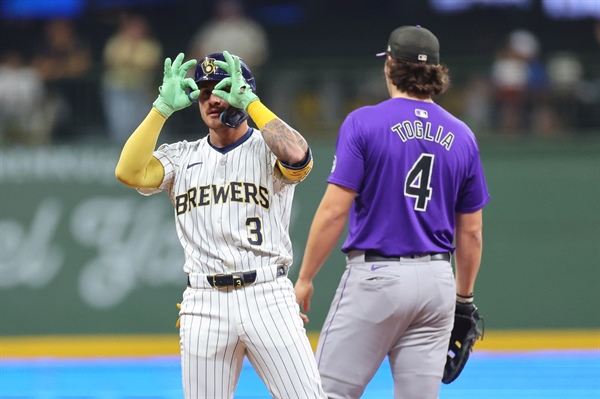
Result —
[[[477, 323], [481, 320], [482, 328]], [[450, 384], [460, 375], [465, 367], [473, 345], [480, 337], [483, 339], [483, 317], [479, 315], [473, 303], [456, 302], [454, 312], [454, 327], [450, 334], [450, 344], [446, 356], [446, 366], [442, 382]]]

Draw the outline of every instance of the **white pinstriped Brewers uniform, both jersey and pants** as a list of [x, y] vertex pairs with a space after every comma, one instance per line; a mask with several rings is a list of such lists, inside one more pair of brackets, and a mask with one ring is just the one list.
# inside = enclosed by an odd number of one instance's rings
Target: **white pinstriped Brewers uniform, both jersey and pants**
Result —
[[[185, 252], [184, 397], [233, 398], [248, 357], [273, 397], [326, 398], [294, 286], [276, 271], [292, 263], [292, 181], [302, 180], [312, 161], [281, 165], [255, 129], [226, 148], [213, 147], [207, 136], [162, 145], [154, 156], [164, 167], [163, 182], [138, 191], [167, 190]], [[251, 270], [256, 283], [243, 287], [217, 289], [206, 278]]]

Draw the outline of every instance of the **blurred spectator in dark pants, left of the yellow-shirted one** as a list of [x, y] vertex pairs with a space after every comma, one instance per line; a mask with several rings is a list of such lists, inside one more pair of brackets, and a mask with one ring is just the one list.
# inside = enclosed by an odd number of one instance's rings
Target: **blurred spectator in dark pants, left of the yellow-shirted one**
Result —
[[92, 67], [89, 44], [70, 20], [54, 19], [47, 23], [42, 43], [34, 51], [33, 62], [45, 82], [47, 101], [57, 108], [52, 139], [72, 139], [74, 128], [85, 123], [80, 118], [87, 115], [86, 96], [91, 91], [87, 73]]

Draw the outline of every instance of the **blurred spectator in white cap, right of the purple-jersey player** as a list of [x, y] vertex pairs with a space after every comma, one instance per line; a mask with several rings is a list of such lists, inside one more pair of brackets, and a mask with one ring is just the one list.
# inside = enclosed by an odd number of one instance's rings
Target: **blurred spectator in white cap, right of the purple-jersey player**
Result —
[[552, 128], [547, 78], [538, 59], [538, 39], [525, 30], [510, 33], [491, 67], [496, 128], [505, 133]]

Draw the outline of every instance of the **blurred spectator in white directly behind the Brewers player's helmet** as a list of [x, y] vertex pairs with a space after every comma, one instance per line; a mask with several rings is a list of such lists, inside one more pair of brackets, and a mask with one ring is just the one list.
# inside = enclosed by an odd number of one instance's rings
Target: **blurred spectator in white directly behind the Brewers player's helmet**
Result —
[[242, 58], [256, 77], [268, 57], [269, 43], [264, 28], [249, 18], [239, 0], [217, 0], [213, 19], [200, 27], [191, 42], [190, 57], [229, 51]]

